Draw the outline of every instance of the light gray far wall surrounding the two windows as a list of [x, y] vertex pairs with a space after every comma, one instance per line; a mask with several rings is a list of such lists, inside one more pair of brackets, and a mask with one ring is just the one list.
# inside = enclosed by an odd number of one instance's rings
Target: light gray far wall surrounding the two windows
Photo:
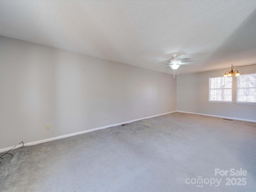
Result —
[[[237, 67], [240, 74], [256, 73], [256, 65]], [[209, 78], [221, 77], [228, 69], [177, 76], [177, 110], [230, 118], [256, 120], [255, 105], [236, 104], [236, 77], [232, 77], [233, 104], [208, 103]], [[190, 109], [189, 109], [190, 106]]]

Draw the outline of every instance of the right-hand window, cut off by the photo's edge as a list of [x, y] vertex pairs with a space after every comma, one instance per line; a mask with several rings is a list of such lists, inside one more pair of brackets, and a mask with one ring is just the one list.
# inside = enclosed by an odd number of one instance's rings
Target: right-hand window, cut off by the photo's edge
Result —
[[256, 103], [256, 73], [237, 77], [237, 102]]

